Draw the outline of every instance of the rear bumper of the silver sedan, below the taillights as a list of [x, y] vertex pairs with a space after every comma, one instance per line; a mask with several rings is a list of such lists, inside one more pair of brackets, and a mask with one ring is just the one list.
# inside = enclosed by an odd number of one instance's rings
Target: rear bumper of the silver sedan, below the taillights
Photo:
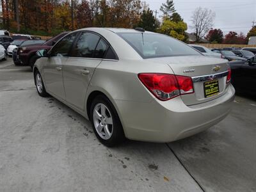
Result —
[[186, 106], [180, 97], [150, 103], [115, 100], [124, 127], [131, 140], [169, 142], [186, 138], [217, 124], [228, 115], [235, 90], [230, 84], [217, 99]]

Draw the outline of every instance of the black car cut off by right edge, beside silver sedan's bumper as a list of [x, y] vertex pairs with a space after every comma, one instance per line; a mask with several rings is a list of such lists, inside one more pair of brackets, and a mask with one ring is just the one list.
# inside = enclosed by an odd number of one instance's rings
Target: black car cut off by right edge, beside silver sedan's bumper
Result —
[[232, 70], [232, 84], [238, 93], [256, 95], [256, 58], [229, 62]]

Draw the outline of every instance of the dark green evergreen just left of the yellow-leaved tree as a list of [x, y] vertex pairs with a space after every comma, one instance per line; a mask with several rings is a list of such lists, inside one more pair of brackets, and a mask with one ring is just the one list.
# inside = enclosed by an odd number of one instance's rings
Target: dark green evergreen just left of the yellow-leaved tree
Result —
[[143, 10], [140, 16], [140, 22], [138, 27], [143, 28], [147, 31], [155, 31], [156, 29], [156, 19], [153, 15], [152, 10]]

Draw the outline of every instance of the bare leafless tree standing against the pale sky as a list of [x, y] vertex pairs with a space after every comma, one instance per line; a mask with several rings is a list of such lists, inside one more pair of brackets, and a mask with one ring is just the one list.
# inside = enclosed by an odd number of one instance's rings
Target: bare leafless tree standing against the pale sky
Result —
[[195, 30], [196, 42], [200, 42], [200, 40], [205, 36], [205, 34], [209, 31], [209, 29], [213, 25], [213, 20], [215, 17], [215, 13], [207, 8], [198, 7], [193, 12], [192, 16], [192, 28]]

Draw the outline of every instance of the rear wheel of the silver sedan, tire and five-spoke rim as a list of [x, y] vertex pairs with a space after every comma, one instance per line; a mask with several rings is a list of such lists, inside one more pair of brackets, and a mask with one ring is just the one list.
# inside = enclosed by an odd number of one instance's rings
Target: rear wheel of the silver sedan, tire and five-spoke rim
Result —
[[90, 120], [95, 135], [103, 145], [113, 147], [125, 140], [124, 130], [115, 107], [104, 95], [98, 95], [93, 99]]

